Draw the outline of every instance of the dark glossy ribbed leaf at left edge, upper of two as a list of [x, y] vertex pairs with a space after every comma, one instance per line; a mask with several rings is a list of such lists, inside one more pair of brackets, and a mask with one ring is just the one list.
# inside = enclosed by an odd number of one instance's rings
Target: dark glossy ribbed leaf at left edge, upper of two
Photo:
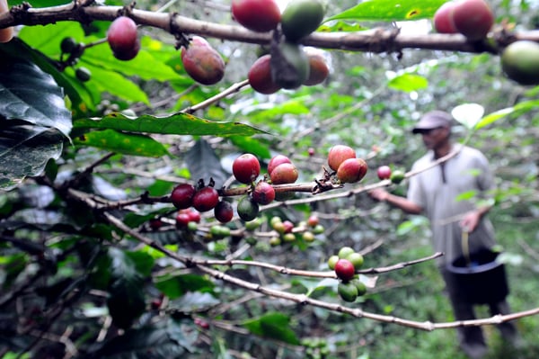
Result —
[[62, 89], [40, 67], [4, 49], [0, 46], [0, 114], [8, 120], [54, 128], [67, 136], [72, 127], [71, 113]]

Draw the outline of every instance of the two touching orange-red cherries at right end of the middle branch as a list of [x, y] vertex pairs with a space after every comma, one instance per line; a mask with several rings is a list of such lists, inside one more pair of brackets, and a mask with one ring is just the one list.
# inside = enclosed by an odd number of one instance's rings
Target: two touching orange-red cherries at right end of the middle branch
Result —
[[328, 166], [335, 171], [337, 179], [342, 184], [353, 184], [361, 181], [367, 174], [367, 162], [356, 157], [354, 148], [336, 145], [328, 153]]

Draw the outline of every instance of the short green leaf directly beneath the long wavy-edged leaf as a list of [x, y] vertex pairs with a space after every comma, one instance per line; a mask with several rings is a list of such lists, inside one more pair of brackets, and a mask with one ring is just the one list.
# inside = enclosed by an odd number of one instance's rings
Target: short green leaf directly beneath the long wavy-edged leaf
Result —
[[73, 142], [79, 146], [93, 146], [131, 156], [161, 157], [168, 153], [163, 144], [155, 139], [116, 130], [87, 132]]

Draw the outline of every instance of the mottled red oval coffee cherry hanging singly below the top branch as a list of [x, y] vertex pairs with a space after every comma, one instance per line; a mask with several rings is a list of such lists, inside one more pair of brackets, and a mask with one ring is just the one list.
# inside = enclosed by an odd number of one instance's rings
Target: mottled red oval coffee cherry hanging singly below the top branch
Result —
[[225, 61], [207, 40], [193, 36], [187, 49], [181, 47], [185, 72], [202, 85], [214, 85], [225, 76]]

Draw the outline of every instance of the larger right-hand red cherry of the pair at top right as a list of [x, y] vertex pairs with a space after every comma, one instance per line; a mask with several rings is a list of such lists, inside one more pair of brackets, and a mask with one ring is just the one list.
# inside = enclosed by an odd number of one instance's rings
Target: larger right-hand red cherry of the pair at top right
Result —
[[458, 0], [453, 9], [455, 29], [469, 40], [481, 40], [494, 24], [490, 5], [484, 0]]

